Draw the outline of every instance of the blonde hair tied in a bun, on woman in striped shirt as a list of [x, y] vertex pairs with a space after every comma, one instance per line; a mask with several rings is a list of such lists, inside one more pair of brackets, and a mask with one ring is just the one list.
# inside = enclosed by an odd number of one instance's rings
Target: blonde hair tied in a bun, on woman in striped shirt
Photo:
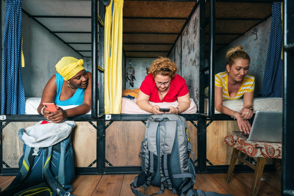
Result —
[[242, 46], [230, 48], [226, 54], [227, 65], [232, 67], [237, 59], [247, 59], [250, 63], [250, 57]]

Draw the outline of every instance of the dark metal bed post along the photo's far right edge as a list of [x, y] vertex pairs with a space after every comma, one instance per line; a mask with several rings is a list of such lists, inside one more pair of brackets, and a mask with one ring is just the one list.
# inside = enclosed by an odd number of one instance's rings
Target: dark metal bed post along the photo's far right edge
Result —
[[283, 19], [283, 34], [284, 34], [284, 100], [283, 100], [283, 158], [282, 158], [282, 191], [281, 195], [294, 195], [294, 169], [293, 169], [293, 87], [294, 78], [294, 27], [293, 27], [293, 12], [294, 2], [292, 0], [284, 1], [284, 19]]

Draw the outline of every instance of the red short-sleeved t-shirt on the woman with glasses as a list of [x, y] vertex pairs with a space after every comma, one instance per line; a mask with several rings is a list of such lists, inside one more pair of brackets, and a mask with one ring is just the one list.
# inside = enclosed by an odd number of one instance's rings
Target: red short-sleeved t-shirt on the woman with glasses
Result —
[[145, 77], [145, 80], [141, 84], [140, 90], [146, 95], [149, 95], [149, 100], [155, 103], [174, 102], [177, 100], [177, 97], [184, 96], [189, 92], [185, 79], [178, 74], [171, 79], [170, 85], [168, 93], [164, 96], [162, 101], [159, 98], [158, 89], [152, 74], [148, 74]]

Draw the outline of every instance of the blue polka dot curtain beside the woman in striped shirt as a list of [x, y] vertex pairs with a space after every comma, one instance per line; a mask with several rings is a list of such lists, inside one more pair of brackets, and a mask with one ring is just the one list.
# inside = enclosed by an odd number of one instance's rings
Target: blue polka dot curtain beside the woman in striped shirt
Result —
[[266, 57], [266, 68], [262, 87], [258, 97], [283, 96], [283, 59], [282, 54], [282, 2], [273, 2], [272, 24], [269, 35], [269, 48]]

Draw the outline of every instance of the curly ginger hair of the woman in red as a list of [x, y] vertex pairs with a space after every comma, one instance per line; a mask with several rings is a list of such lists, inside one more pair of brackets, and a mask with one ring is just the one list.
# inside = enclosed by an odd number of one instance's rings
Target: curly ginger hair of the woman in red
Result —
[[171, 61], [171, 59], [167, 57], [158, 57], [150, 65], [149, 70], [147, 70], [147, 74], [152, 74], [153, 77], [160, 74], [162, 76], [169, 76], [173, 78], [175, 77], [177, 70], [175, 62]]

